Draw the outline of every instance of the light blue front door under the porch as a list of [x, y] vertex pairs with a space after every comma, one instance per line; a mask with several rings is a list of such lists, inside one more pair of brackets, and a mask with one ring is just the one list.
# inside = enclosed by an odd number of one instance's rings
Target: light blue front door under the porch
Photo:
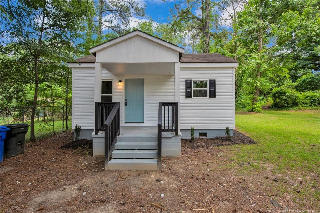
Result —
[[144, 79], [125, 79], [124, 122], [144, 122]]

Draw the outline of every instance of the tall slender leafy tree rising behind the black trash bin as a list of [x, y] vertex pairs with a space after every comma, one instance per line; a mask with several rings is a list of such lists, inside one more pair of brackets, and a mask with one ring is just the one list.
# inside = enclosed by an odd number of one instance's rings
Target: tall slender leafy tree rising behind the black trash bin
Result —
[[[67, 32], [82, 24], [84, 14], [90, 7], [88, 2], [79, 1], [18, 1], [1, 2], [12, 17], [2, 16], [2, 36], [10, 40], [13, 53], [24, 50], [22, 60], [32, 61], [30, 75], [34, 80], [34, 97], [30, 122], [30, 140], [35, 141], [34, 119], [39, 90], [39, 63], [47, 62], [60, 55], [68, 45]], [[19, 55], [17, 55], [18, 60]], [[45, 72], [45, 70], [42, 70]]]

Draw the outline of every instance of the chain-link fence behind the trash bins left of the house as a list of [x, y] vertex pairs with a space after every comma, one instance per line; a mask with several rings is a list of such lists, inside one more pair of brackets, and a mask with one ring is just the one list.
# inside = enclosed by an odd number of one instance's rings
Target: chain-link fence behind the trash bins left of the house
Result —
[[[0, 112], [0, 125], [9, 123], [27, 123], [30, 125], [33, 106], [5, 109]], [[36, 106], [35, 137], [48, 137], [67, 130], [65, 121], [65, 106]], [[71, 126], [71, 107], [68, 107], [68, 129]], [[30, 127], [26, 141], [30, 140]]]

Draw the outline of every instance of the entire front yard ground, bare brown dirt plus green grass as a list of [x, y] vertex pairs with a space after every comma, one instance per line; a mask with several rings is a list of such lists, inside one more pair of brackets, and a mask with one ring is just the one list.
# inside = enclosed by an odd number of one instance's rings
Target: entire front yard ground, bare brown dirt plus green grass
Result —
[[236, 116], [238, 130], [257, 144], [198, 147], [183, 141], [181, 157], [163, 157], [161, 171], [104, 171], [103, 157], [60, 148], [73, 140], [71, 132], [27, 143], [25, 154], [1, 163], [1, 210], [319, 211], [319, 110]]

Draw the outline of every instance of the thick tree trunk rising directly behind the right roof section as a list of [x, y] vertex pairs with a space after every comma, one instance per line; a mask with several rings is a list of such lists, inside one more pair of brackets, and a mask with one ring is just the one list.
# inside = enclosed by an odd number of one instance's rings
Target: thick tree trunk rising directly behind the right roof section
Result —
[[210, 42], [210, 0], [202, 0], [202, 39], [204, 42], [203, 53], [209, 53]]

